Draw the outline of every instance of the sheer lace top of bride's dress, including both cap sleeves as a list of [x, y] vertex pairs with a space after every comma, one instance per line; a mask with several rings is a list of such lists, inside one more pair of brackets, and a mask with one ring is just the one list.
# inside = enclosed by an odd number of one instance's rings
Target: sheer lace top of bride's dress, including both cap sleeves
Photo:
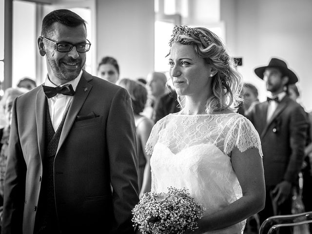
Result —
[[234, 146], [241, 152], [256, 147], [262, 156], [260, 138], [252, 123], [239, 114], [178, 115], [170, 114], [154, 126], [146, 143], [146, 152], [152, 155], [156, 144], [166, 145], [176, 154], [199, 144], [213, 144], [224, 154]]

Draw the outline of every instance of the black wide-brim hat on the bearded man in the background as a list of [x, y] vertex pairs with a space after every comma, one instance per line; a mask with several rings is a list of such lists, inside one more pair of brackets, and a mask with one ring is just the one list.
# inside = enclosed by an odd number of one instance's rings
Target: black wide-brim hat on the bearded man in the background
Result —
[[273, 68], [277, 68], [281, 71], [283, 76], [287, 76], [289, 78], [288, 80], [288, 84], [294, 84], [295, 82], [298, 81], [297, 76], [293, 73], [292, 70], [290, 70], [287, 67], [286, 62], [284, 62], [281, 59], [276, 59], [276, 58], [272, 58], [269, 62], [268, 66], [264, 66], [264, 67], [257, 67], [254, 69], [254, 73], [261, 79], [263, 79], [263, 73], [265, 71], [265, 69], [269, 68], [269, 67], [273, 67]]

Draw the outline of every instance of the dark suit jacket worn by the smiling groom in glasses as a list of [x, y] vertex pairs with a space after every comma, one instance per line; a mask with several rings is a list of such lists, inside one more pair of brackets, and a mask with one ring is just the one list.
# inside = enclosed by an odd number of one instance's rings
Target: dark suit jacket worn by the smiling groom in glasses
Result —
[[[39, 86], [14, 101], [2, 234], [33, 234], [44, 158], [45, 99]], [[133, 233], [131, 209], [138, 202], [137, 183], [130, 96], [83, 71], [54, 162], [62, 230]]]

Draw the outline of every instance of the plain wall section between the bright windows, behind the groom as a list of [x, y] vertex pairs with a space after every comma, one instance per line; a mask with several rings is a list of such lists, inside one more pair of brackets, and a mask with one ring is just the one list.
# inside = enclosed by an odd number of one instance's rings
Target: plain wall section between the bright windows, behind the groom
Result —
[[97, 0], [97, 59], [112, 56], [120, 78], [154, 70], [154, 0]]

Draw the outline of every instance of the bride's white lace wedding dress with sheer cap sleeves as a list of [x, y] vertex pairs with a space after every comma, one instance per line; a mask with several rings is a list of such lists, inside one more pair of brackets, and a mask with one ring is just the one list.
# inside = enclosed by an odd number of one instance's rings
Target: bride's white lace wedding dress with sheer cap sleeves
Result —
[[[231, 151], [256, 147], [260, 138], [252, 123], [236, 114], [169, 114], [151, 132], [146, 152], [151, 155], [152, 192], [187, 188], [209, 215], [242, 196], [231, 164]], [[241, 234], [246, 221], [209, 234]], [[207, 233], [207, 234], [208, 234]]]

